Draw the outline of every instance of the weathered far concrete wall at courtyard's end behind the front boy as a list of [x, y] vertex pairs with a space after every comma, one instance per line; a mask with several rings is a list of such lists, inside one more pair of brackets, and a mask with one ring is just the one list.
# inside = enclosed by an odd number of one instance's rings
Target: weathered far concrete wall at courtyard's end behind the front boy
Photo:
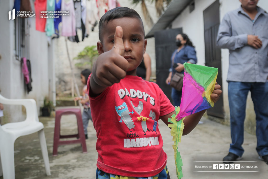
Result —
[[[131, 1], [128, 0], [119, 0], [118, 1], [121, 6], [123, 7], [129, 7], [135, 9], [141, 16], [143, 23], [144, 23], [144, 29], [145, 34], [151, 29], [150, 26], [146, 23], [143, 17], [142, 8], [141, 5], [138, 4], [137, 6], [131, 4]], [[87, 2], [88, 3], [88, 2]], [[158, 17], [156, 16], [156, 10], [155, 10], [155, 4], [150, 3], [146, 1], [147, 8], [150, 12], [150, 15], [154, 21], [154, 23], [157, 22]], [[101, 17], [101, 16], [100, 16]], [[75, 63], [78, 63], [79, 60], [73, 60], [74, 57], [78, 55], [80, 51], [82, 51], [86, 46], [92, 46], [97, 45], [97, 42], [99, 41], [98, 37], [98, 25], [94, 28], [94, 31], [90, 31], [90, 35], [88, 38], [85, 38], [84, 41], [81, 41], [81, 34], [82, 32], [78, 30], [78, 36], [79, 36], [79, 43], [76, 42], [70, 42], [67, 40], [67, 46], [69, 49], [69, 56], [72, 61], [73, 70], [75, 72], [76, 82], [79, 86], [80, 93], [82, 91], [83, 85], [80, 81], [80, 73], [84, 68], [77, 68], [75, 67]], [[55, 76], [56, 76], [56, 93], [57, 96], [65, 95], [65, 94], [71, 94], [71, 88], [72, 88], [72, 74], [70, 69], [70, 64], [68, 61], [68, 55], [66, 50], [66, 43], [65, 43], [65, 37], [60, 36], [58, 39], [53, 40], [55, 42]], [[147, 49], [146, 52], [151, 57], [151, 67], [152, 67], [152, 77], [155, 77], [155, 45], [154, 45], [154, 38], [147, 39]], [[87, 67], [85, 67], [87, 68]], [[74, 92], [76, 93], [76, 90], [74, 88]]]

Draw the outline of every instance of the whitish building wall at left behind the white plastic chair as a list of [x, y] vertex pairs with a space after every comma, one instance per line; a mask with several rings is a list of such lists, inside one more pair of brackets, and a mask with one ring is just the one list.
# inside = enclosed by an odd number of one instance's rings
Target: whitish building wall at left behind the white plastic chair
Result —
[[[0, 90], [1, 95], [6, 98], [20, 99], [33, 98], [36, 100], [38, 109], [43, 105], [45, 96], [49, 94], [49, 86], [53, 82], [53, 56], [49, 54], [53, 50], [48, 50], [47, 37], [44, 32], [35, 30], [35, 18], [28, 18], [30, 28], [30, 61], [32, 68], [32, 91], [27, 94], [24, 86], [24, 78], [21, 70], [21, 62], [16, 60], [14, 52], [14, 20], [8, 20], [8, 11], [12, 10], [13, 1], [0, 1]], [[19, 17], [16, 17], [19, 18]], [[51, 90], [53, 91], [53, 90]], [[25, 109], [22, 106], [4, 106], [4, 117], [6, 122], [16, 122], [24, 120]], [[39, 111], [38, 111], [39, 112]], [[12, 115], [11, 115], [12, 114]], [[12, 118], [9, 118], [12, 116]]]

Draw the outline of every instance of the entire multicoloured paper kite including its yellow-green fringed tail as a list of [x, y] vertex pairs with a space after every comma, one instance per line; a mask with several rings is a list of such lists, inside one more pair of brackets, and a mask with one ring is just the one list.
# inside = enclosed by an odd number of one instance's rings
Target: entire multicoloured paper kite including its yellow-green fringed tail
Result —
[[174, 158], [176, 163], [176, 172], [178, 179], [183, 177], [181, 166], [182, 159], [178, 151], [178, 143], [181, 141], [186, 116], [193, 113], [208, 109], [214, 106], [211, 100], [218, 75], [218, 68], [206, 67], [201, 65], [184, 63], [183, 89], [181, 96], [181, 106], [176, 107], [176, 115], [168, 119], [168, 127], [171, 127], [171, 135], [173, 136]]

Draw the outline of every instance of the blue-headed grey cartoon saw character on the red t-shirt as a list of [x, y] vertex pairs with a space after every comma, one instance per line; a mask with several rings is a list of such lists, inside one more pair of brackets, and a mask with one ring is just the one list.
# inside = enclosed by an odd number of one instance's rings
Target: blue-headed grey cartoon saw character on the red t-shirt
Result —
[[[130, 113], [134, 113], [129, 112], [128, 111], [128, 107], [126, 106], [126, 103], [123, 103], [120, 106], [116, 106], [116, 112], [117, 114], [121, 117], [121, 120], [119, 122], [122, 123], [122, 121], [124, 121], [125, 125], [128, 127], [129, 131], [131, 131], [131, 129], [133, 129], [135, 127], [134, 122], [132, 121], [132, 118], [130, 117]], [[133, 129], [135, 130], [135, 129]], [[131, 131], [132, 132], [132, 131]]]

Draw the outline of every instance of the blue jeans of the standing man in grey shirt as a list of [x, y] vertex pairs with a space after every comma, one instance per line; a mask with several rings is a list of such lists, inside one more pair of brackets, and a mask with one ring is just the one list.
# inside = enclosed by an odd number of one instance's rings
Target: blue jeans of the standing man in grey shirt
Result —
[[228, 82], [230, 107], [230, 126], [232, 144], [229, 152], [242, 156], [244, 149], [244, 120], [248, 92], [254, 104], [256, 114], [256, 150], [260, 156], [268, 155], [268, 82]]

